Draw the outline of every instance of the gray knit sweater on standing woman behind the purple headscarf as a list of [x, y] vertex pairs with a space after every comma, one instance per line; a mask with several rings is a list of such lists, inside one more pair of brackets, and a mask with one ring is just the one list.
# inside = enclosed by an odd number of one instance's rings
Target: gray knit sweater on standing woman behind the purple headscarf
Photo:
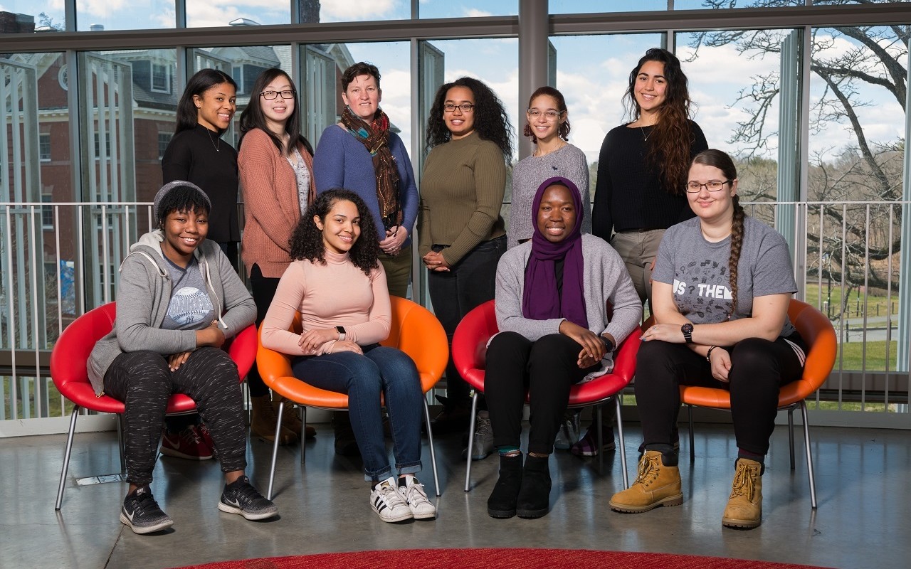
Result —
[[582, 195], [582, 233], [591, 233], [591, 200], [589, 198], [589, 162], [585, 153], [571, 144], [542, 157], [529, 156], [513, 168], [512, 208], [509, 211], [507, 249], [518, 245], [520, 239], [531, 239], [535, 228], [531, 221], [531, 202], [541, 183], [555, 176], [568, 178]]

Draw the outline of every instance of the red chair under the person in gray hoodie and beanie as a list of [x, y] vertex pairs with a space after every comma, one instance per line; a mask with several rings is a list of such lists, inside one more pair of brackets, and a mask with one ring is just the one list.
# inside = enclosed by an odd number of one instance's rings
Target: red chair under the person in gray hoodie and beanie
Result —
[[[54, 509], [59, 510], [63, 503], [64, 486], [67, 483], [69, 470], [69, 455], [73, 450], [73, 437], [76, 433], [76, 419], [79, 410], [85, 408], [89, 411], [117, 413], [122, 415], [123, 402], [113, 397], [102, 395], [97, 397], [92, 384], [88, 381], [87, 361], [88, 356], [95, 347], [95, 342], [104, 338], [114, 328], [116, 316], [116, 303], [109, 302], [89, 310], [60, 334], [51, 352], [51, 379], [54, 380], [57, 390], [69, 401], [75, 403], [72, 418], [69, 422], [67, 434], [67, 450], [64, 452], [63, 468], [60, 471], [60, 485], [57, 487], [56, 503]], [[241, 330], [233, 339], [226, 341], [223, 346], [228, 351], [231, 360], [237, 364], [239, 378], [242, 380], [256, 359], [256, 328], [248, 326]], [[169, 413], [191, 412], [196, 409], [196, 402], [181, 393], [171, 395], [168, 401]], [[120, 468], [126, 470], [123, 455], [123, 439], [120, 437], [120, 420], [118, 417], [118, 438], [120, 439]]]

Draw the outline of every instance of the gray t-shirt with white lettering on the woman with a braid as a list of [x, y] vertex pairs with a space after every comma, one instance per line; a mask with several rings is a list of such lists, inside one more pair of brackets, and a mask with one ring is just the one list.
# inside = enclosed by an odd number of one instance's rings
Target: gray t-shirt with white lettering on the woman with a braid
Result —
[[[692, 218], [664, 233], [651, 277], [673, 287], [677, 309], [688, 320], [711, 324], [727, 320], [731, 311], [731, 238], [711, 243], [702, 237], [699, 223], [699, 218]], [[787, 242], [780, 233], [750, 217], [743, 219], [743, 248], [737, 269], [737, 310], [731, 320], [749, 318], [755, 297], [797, 291]], [[781, 335], [789, 336], [793, 331], [791, 321], [785, 319]]]

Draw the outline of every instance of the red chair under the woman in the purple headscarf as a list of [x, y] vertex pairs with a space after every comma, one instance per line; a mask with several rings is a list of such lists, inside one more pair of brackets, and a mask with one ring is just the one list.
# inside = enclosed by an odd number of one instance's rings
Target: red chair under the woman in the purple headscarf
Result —
[[[455, 368], [462, 374], [473, 388], [475, 396], [471, 403], [471, 423], [469, 429], [474, 429], [475, 415], [477, 412], [477, 396], [484, 392], [484, 367], [486, 363], [487, 340], [496, 334], [496, 313], [494, 301], [488, 300], [484, 304], [468, 312], [459, 322], [453, 336], [453, 361]], [[613, 398], [617, 405], [617, 433], [620, 442], [620, 464], [623, 472], [623, 487], [630, 487], [627, 476], [626, 445], [623, 442], [623, 423], [620, 421], [620, 398], [617, 397], [636, 373], [636, 352], [639, 351], [641, 330], [637, 328], [620, 343], [619, 350], [614, 357], [614, 371], [595, 380], [573, 385], [569, 390], [570, 408], [596, 407], [596, 426], [598, 432], [598, 448], [604, 446], [601, 440], [601, 406], [600, 403]], [[526, 396], [527, 401], [527, 396]], [[471, 456], [474, 437], [468, 437], [468, 456]], [[603, 463], [604, 452], [599, 452], [599, 467]], [[471, 489], [471, 461], [465, 473], [465, 491]]]

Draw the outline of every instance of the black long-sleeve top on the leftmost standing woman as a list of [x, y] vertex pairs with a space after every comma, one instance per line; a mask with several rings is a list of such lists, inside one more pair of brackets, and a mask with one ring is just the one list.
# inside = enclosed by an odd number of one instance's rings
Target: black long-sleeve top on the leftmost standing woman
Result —
[[217, 132], [198, 124], [174, 135], [161, 158], [161, 173], [165, 184], [186, 180], [209, 196], [212, 210], [207, 239], [216, 243], [241, 240], [237, 150], [221, 140]]

